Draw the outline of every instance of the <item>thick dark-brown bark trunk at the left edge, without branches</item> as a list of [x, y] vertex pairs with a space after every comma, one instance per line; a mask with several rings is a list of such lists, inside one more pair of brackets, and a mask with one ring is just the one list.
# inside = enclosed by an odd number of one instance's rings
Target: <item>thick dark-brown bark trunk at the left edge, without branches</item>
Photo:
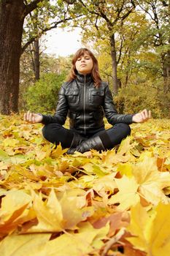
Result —
[[0, 1], [0, 113], [18, 112], [23, 0]]

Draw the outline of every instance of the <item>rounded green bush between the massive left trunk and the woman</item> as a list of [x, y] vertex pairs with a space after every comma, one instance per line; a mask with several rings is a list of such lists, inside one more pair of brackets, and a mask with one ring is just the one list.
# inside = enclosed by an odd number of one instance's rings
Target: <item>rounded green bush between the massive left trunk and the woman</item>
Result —
[[47, 113], [55, 109], [58, 91], [66, 78], [65, 72], [61, 75], [48, 73], [33, 86], [28, 87], [26, 92], [27, 109], [40, 113]]

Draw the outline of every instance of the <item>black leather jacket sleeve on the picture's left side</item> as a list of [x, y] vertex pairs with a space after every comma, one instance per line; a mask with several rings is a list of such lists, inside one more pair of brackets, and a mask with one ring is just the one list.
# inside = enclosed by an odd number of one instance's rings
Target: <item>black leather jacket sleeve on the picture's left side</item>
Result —
[[68, 103], [65, 95], [65, 89], [61, 86], [58, 92], [58, 104], [54, 116], [42, 115], [42, 124], [58, 123], [63, 125], [68, 113]]

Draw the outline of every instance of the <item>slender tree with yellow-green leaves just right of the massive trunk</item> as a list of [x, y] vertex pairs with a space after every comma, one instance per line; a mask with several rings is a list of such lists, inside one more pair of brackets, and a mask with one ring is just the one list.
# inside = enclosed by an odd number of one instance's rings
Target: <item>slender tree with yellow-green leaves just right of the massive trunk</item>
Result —
[[40, 77], [39, 56], [41, 52], [39, 52], [39, 39], [51, 29], [56, 29], [58, 26], [60, 28], [69, 26], [67, 21], [76, 17], [73, 13], [74, 10], [68, 9], [69, 6], [62, 4], [61, 1], [55, 3], [55, 5], [47, 1], [45, 7], [43, 4], [39, 5], [41, 8], [36, 8], [26, 16], [22, 44], [22, 53], [31, 45], [35, 80], [39, 80]]

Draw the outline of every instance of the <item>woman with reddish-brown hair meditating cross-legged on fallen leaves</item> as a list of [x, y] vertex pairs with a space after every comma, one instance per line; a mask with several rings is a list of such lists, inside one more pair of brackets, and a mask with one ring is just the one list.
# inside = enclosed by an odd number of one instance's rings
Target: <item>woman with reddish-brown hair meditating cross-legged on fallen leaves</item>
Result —
[[[69, 116], [70, 129], [63, 124]], [[104, 129], [106, 116], [110, 129]], [[142, 110], [134, 115], [118, 114], [112, 101], [108, 84], [101, 80], [98, 61], [87, 48], [77, 50], [72, 59], [69, 79], [63, 83], [58, 94], [54, 116], [27, 112], [24, 120], [42, 123], [45, 139], [63, 148], [85, 152], [91, 148], [98, 151], [113, 148], [131, 133], [129, 124], [142, 123], [151, 117], [150, 111]]]

